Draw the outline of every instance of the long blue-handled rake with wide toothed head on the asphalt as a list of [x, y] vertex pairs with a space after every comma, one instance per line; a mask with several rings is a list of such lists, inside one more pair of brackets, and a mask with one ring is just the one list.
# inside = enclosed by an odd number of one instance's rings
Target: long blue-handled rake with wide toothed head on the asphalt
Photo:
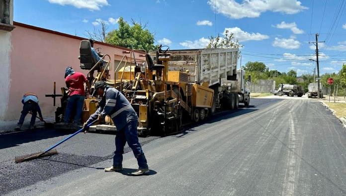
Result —
[[[91, 124], [95, 123], [96, 121], [97, 121], [97, 119], [92, 121], [91, 123], [89, 123], [87, 125], [87, 127], [89, 127]], [[29, 161], [29, 160], [37, 159], [37, 158], [40, 158], [40, 157], [45, 157], [45, 156], [50, 156], [50, 155], [58, 154], [58, 151], [56, 149], [53, 149], [53, 148], [59, 146], [60, 144], [64, 143], [66, 140], [68, 140], [71, 137], [77, 135], [79, 132], [81, 132], [83, 130], [84, 129], [81, 128], [80, 130], [78, 130], [74, 134], [72, 134], [72, 135], [68, 136], [67, 138], [61, 140], [60, 142], [54, 144], [53, 146], [49, 147], [45, 151], [40, 151], [40, 152], [36, 152], [36, 153], [32, 153], [32, 154], [17, 156], [17, 157], [14, 158], [14, 162], [15, 163], [20, 163], [20, 162], [24, 162], [24, 161]]]

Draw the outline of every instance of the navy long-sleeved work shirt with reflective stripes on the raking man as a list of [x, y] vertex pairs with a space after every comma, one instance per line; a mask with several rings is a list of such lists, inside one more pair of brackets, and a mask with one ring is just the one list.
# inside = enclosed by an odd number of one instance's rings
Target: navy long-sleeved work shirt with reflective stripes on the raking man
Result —
[[130, 121], [138, 121], [136, 111], [124, 95], [111, 87], [106, 87], [104, 91], [105, 94], [100, 101], [100, 106], [89, 117], [86, 124], [96, 120], [98, 115], [102, 117], [109, 115], [117, 130], [121, 130]]

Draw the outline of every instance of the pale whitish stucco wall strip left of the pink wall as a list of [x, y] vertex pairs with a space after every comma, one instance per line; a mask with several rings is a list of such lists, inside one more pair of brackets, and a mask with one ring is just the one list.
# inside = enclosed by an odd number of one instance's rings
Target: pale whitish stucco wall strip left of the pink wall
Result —
[[0, 120], [5, 119], [10, 86], [11, 33], [0, 31]]

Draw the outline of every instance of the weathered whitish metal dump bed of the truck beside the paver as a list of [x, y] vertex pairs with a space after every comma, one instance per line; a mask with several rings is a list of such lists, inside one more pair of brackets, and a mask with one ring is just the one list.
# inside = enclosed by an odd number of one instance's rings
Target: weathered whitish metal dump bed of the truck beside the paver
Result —
[[189, 82], [209, 82], [209, 86], [220, 79], [236, 80], [238, 52], [239, 48], [170, 50], [169, 71], [189, 70]]

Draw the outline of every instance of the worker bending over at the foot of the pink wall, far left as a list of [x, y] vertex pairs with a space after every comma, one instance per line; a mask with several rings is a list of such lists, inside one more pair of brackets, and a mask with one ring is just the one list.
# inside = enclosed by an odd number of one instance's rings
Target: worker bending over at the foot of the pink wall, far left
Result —
[[23, 110], [21, 111], [19, 122], [17, 123], [17, 127], [15, 129], [20, 130], [21, 126], [23, 125], [24, 118], [26, 114], [28, 114], [29, 112], [31, 112], [31, 120], [30, 120], [29, 129], [34, 129], [37, 112], [38, 112], [38, 115], [40, 116], [40, 120], [43, 121], [41, 108], [38, 105], [38, 97], [34, 93], [26, 93], [24, 94], [22, 98], [22, 103], [23, 103]]

